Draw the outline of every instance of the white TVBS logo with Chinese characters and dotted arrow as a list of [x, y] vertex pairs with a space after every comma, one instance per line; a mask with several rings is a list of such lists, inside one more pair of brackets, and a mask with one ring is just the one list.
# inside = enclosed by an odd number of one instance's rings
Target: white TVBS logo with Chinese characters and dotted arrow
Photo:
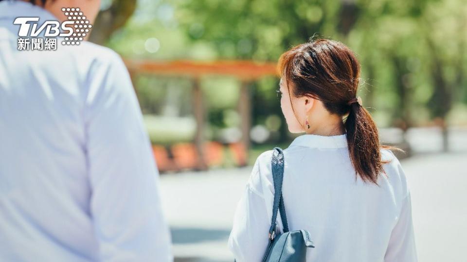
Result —
[[[79, 46], [92, 25], [79, 8], [62, 8], [62, 12], [67, 20], [47, 20], [40, 26], [39, 17], [17, 17], [13, 24], [19, 25], [18, 50], [56, 50], [57, 37], [62, 45]], [[38, 37], [42, 33], [44, 37]]]

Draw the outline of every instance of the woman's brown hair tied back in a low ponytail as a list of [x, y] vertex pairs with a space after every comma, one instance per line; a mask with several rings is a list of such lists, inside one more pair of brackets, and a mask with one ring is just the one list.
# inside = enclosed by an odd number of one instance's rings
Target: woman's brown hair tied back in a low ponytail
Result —
[[331, 114], [348, 114], [344, 126], [351, 162], [363, 181], [377, 184], [383, 164], [389, 162], [381, 160], [380, 149], [398, 148], [381, 145], [370, 113], [357, 102], [349, 104], [355, 101], [360, 80], [360, 65], [352, 50], [338, 41], [310, 41], [281, 55], [279, 73], [287, 88], [293, 83], [293, 96], [321, 100]]

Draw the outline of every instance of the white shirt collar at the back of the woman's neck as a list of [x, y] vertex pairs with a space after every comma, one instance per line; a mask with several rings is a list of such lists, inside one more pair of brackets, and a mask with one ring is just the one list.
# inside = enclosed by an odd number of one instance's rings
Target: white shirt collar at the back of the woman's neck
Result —
[[304, 134], [296, 137], [290, 147], [316, 147], [316, 148], [341, 148], [347, 147], [347, 135], [322, 136], [315, 134]]

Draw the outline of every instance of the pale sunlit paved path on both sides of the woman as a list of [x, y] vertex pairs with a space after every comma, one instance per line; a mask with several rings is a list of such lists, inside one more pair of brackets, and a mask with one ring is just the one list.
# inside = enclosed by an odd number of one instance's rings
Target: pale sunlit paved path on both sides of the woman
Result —
[[[420, 262], [465, 262], [467, 153], [401, 161], [411, 188]], [[226, 243], [251, 167], [161, 178], [176, 262], [232, 262]]]

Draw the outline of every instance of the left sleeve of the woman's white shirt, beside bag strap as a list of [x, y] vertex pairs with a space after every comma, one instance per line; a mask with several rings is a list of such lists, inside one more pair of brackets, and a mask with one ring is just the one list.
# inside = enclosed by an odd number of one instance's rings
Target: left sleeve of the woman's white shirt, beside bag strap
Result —
[[[267, 209], [266, 202], [269, 201], [265, 201], [262, 193], [264, 181], [261, 181], [259, 159], [237, 205], [229, 237], [228, 246], [236, 262], [260, 262], [269, 244], [271, 211]], [[272, 202], [270, 205], [272, 209]]]

